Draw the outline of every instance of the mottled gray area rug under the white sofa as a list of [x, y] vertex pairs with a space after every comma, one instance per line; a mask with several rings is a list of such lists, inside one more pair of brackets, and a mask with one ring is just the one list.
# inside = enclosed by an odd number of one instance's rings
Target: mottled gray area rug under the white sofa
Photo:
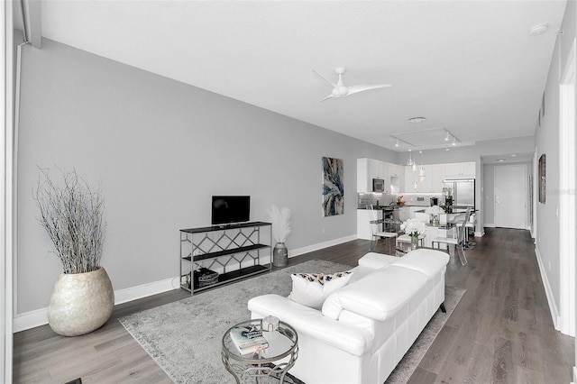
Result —
[[[221, 361], [222, 336], [231, 326], [250, 319], [247, 309], [250, 298], [269, 293], [288, 296], [292, 287], [291, 273], [334, 273], [350, 269], [350, 266], [331, 261], [306, 261], [125, 316], [119, 321], [175, 382], [234, 383], [233, 376], [224, 370]], [[447, 314], [437, 312], [391, 373], [388, 383], [407, 381], [463, 293], [464, 289], [445, 289]]]

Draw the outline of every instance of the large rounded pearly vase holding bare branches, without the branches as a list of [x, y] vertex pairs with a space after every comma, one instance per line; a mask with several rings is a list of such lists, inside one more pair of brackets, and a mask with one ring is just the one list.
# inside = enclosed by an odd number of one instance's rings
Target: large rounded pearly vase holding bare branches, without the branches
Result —
[[50, 296], [48, 323], [63, 336], [88, 334], [112, 315], [114, 290], [105, 269], [86, 273], [61, 273]]

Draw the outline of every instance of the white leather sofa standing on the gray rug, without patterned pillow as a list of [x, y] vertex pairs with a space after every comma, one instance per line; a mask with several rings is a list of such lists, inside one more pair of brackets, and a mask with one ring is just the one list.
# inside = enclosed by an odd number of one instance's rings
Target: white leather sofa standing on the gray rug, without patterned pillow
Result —
[[447, 253], [426, 249], [400, 258], [371, 252], [321, 311], [274, 294], [253, 297], [248, 307], [252, 318], [274, 315], [298, 331], [290, 370], [298, 379], [380, 384], [443, 304], [448, 261]]

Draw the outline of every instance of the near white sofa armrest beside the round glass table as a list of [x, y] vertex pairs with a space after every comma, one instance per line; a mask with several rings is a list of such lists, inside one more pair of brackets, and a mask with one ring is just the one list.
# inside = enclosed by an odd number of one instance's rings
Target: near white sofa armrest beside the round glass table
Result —
[[366, 329], [341, 324], [314, 308], [292, 301], [289, 297], [274, 294], [252, 297], [248, 307], [252, 318], [277, 316], [281, 321], [292, 325], [298, 334], [307, 334], [355, 356], [362, 356], [371, 350], [373, 337]]

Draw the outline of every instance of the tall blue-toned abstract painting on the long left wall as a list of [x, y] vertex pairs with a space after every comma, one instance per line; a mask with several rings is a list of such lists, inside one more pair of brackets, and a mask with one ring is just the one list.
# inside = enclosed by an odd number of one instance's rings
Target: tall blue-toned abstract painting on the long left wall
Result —
[[343, 160], [323, 158], [323, 216], [343, 215]]

